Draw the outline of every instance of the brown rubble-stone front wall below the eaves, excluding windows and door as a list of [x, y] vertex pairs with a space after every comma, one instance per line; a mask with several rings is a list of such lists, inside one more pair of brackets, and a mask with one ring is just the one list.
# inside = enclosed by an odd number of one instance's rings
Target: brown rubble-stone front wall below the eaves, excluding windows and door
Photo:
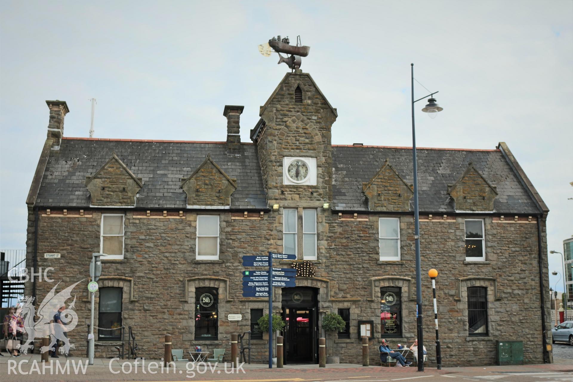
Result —
[[[297, 278], [297, 286], [319, 289], [320, 315], [337, 312], [338, 308], [350, 308], [351, 338], [339, 340], [336, 334], [328, 333], [328, 355], [340, 356], [343, 363], [359, 363], [362, 345], [358, 338], [358, 320], [373, 320], [375, 340], [371, 341], [370, 362], [379, 364], [377, 349], [380, 337], [383, 337], [379, 320], [380, 286], [402, 288], [403, 336], [387, 340], [393, 345], [411, 344], [415, 337], [413, 217], [371, 214], [364, 220], [349, 221], [339, 220], [337, 214], [328, 210], [318, 211], [319, 255], [317, 261], [312, 261], [317, 273], [313, 278]], [[40, 213], [38, 266], [54, 268], [49, 275], [56, 282], [61, 281], [58, 290], [89, 274], [91, 254], [100, 250], [102, 212], [111, 211], [85, 211], [83, 217]], [[175, 349], [187, 350], [195, 345], [208, 350], [225, 348], [228, 360], [230, 334], [250, 329], [250, 309], [265, 309], [266, 313], [268, 308], [265, 299], [241, 296], [241, 257], [282, 250], [281, 214], [282, 211], [278, 211], [265, 213], [262, 219], [231, 219], [231, 213], [223, 212], [219, 260], [197, 261], [196, 212], [184, 212], [183, 219], [134, 217], [134, 212], [126, 211], [124, 259], [104, 261], [105, 277], [99, 283], [100, 287], [123, 288], [123, 324], [134, 328], [140, 355], [159, 359], [163, 355], [163, 336], [170, 333]], [[379, 216], [401, 219], [400, 261], [379, 261]], [[33, 227], [33, 214], [30, 217]], [[484, 218], [485, 262], [465, 261], [464, 216], [421, 222], [423, 322], [430, 364], [435, 363], [434, 322], [431, 282], [426, 272], [432, 267], [439, 271], [438, 319], [444, 366], [494, 364], [497, 340], [524, 338], [527, 338], [524, 341], [525, 362], [543, 362], [537, 225], [535, 222], [494, 222], [488, 216]], [[32, 243], [33, 235], [29, 235], [29, 247]], [[29, 250], [33, 253], [32, 248]], [[45, 259], [42, 255], [54, 252], [61, 253], [61, 258]], [[546, 254], [544, 256], [544, 273], [547, 273]], [[281, 266], [288, 264], [281, 262]], [[38, 282], [38, 301], [42, 301], [54, 285]], [[76, 312], [80, 322], [69, 333], [70, 340], [77, 346], [73, 353], [78, 356], [85, 355], [86, 351], [89, 322], [86, 285], [87, 280], [74, 290], [78, 296]], [[487, 337], [468, 336], [466, 288], [471, 285], [488, 288]], [[545, 285], [548, 285], [547, 280]], [[194, 340], [194, 291], [201, 286], [213, 286], [219, 291], [217, 341]], [[28, 283], [28, 295], [30, 288]], [[273, 309], [278, 313], [280, 289], [275, 288], [274, 296]], [[241, 313], [243, 320], [227, 321], [229, 313]], [[519, 325], [516, 325], [516, 317], [519, 317]], [[253, 341], [253, 346], [252, 360], [265, 362], [266, 340]], [[113, 346], [96, 346], [96, 356], [115, 354]]]

